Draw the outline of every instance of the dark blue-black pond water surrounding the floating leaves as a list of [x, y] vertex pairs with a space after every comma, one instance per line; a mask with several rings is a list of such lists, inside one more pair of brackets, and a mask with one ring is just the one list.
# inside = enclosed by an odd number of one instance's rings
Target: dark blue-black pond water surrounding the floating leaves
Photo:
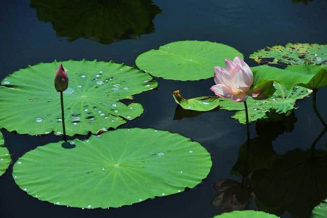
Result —
[[[157, 0], [153, 5], [151, 1], [129, 4], [90, 0], [67, 1], [69, 4], [63, 6], [51, 2], [56, 1], [3, 3], [0, 79], [28, 64], [54, 59], [114, 60], [134, 66], [138, 54], [178, 40], [225, 43], [245, 57], [265, 46], [287, 42], [327, 43], [327, 1], [321, 0]], [[96, 10], [99, 4], [104, 5], [105, 13]], [[110, 16], [103, 17], [106, 14]], [[81, 30], [88, 26], [89, 31]], [[94, 26], [99, 29], [92, 30]], [[254, 66], [253, 61], [246, 61]], [[239, 185], [242, 176], [232, 167], [243, 164], [237, 160], [240, 147], [246, 142], [245, 126], [230, 119], [232, 112], [226, 111], [191, 114], [196, 116], [189, 118], [172, 98], [174, 90], [180, 90], [186, 98], [212, 95], [209, 88], [213, 79], [193, 82], [155, 79], [156, 90], [136, 95], [133, 100], [144, 106], [144, 114], [121, 127], [169, 130], [200, 142], [213, 161], [211, 172], [201, 184], [131, 206], [82, 210], [38, 201], [26, 194], [15, 184], [11, 164], [0, 177], [0, 217], [213, 217], [238, 208], [231, 206], [237, 205], [236, 202], [283, 217], [309, 217], [313, 207], [327, 198], [327, 176], [321, 176], [327, 175], [326, 165], [321, 164], [326, 163], [327, 134], [316, 145], [315, 164], [308, 162], [311, 144], [323, 129], [313, 112], [312, 96], [298, 101], [298, 109], [281, 121], [250, 125], [249, 163], [260, 168], [264, 164], [259, 163], [260, 158], [273, 156], [280, 159], [280, 164], [251, 173], [256, 183], [244, 189]], [[318, 91], [317, 106], [325, 119], [326, 95], [327, 88]], [[13, 162], [36, 146], [61, 140], [53, 134], [17, 135], [5, 129], [1, 132]], [[212, 201], [218, 192], [213, 186], [222, 179], [233, 180], [226, 182], [232, 185], [226, 189], [222, 202], [214, 201], [220, 206], [214, 206]], [[247, 184], [249, 178], [243, 179]], [[259, 200], [251, 200], [253, 192]]]

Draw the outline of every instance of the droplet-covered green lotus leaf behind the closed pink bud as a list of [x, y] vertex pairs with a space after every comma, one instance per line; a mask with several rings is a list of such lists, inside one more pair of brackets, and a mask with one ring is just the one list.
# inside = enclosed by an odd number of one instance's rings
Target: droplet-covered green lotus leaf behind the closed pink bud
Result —
[[[69, 77], [64, 91], [66, 134], [96, 133], [116, 128], [143, 113], [138, 103], [121, 99], [157, 86], [142, 71], [113, 62], [63, 61], [39, 63], [7, 76], [0, 86], [0, 126], [22, 134], [62, 131], [60, 94], [54, 88], [55, 72], [62, 63]], [[125, 119], [123, 119], [125, 118]]]

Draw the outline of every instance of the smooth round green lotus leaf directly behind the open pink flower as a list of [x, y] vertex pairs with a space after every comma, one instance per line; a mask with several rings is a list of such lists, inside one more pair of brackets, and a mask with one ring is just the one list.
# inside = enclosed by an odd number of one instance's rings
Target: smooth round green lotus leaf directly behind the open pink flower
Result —
[[139, 55], [139, 69], [156, 77], [173, 80], [199, 80], [214, 76], [214, 66], [225, 66], [225, 58], [243, 58], [236, 49], [209, 41], [175, 41]]

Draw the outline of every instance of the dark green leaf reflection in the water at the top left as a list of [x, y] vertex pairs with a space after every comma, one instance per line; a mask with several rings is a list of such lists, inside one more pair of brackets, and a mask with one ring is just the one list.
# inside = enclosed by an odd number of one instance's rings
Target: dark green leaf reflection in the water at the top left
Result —
[[80, 37], [109, 44], [154, 32], [161, 9], [151, 0], [31, 0], [39, 20], [51, 22], [57, 36]]

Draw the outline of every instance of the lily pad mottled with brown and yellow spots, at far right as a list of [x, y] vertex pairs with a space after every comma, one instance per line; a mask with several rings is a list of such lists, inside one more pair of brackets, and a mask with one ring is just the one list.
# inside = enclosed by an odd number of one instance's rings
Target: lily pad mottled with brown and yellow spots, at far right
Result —
[[[286, 46], [266, 47], [250, 55], [258, 63], [327, 64], [327, 45], [288, 43]], [[272, 60], [266, 61], [265, 58]]]

